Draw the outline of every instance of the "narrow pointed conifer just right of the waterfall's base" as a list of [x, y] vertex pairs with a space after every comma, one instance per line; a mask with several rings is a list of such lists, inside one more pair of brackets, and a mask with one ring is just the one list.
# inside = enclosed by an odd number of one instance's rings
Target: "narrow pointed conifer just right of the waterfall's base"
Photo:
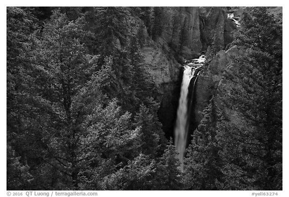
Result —
[[220, 177], [221, 161], [218, 155], [218, 112], [214, 99], [204, 110], [204, 117], [192, 135], [185, 159], [185, 184], [188, 189], [215, 190]]

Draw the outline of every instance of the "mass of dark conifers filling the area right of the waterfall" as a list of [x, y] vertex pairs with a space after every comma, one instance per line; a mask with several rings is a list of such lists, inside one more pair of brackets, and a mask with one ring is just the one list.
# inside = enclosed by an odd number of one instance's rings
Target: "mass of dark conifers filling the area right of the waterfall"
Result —
[[189, 188], [282, 189], [282, 24], [247, 8], [234, 37], [188, 148]]

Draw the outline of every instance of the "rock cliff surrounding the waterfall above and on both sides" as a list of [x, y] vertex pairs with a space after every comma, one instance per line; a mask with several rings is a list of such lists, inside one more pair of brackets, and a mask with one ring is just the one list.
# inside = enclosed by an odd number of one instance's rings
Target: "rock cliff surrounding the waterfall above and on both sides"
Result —
[[[161, 94], [159, 118], [167, 136], [173, 136], [182, 83], [182, 66], [176, 59], [199, 57], [213, 43], [225, 49], [233, 41], [232, 30], [236, 28], [222, 8], [182, 7], [173, 11], [174, 17], [167, 21], [163, 37], [156, 44], [142, 48], [147, 70]], [[194, 124], [201, 121], [201, 112], [215, 94], [226, 62], [226, 53], [221, 51], [202, 71], [197, 82], [195, 109], [192, 111]]]

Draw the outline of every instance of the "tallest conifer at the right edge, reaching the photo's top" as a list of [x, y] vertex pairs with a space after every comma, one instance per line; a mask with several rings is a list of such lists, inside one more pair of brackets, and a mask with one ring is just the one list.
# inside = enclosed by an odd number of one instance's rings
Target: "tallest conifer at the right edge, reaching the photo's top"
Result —
[[281, 25], [267, 8], [244, 12], [233, 42], [239, 52], [225, 71], [232, 88], [220, 97], [240, 122], [220, 122], [220, 156], [228, 163], [223, 189], [282, 188], [281, 38]]

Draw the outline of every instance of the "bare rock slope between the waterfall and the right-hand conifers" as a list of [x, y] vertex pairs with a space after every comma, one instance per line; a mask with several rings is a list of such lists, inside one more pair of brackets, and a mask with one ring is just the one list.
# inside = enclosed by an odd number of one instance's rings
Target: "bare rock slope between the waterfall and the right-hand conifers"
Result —
[[198, 79], [196, 87], [196, 101], [193, 108], [193, 117], [195, 124], [199, 124], [203, 118], [202, 111], [209, 104], [212, 96], [216, 97], [217, 106], [225, 112], [227, 118], [231, 123], [242, 126], [242, 121], [236, 111], [227, 108], [223, 105], [219, 98], [224, 98], [224, 95], [229, 94], [233, 88], [233, 84], [226, 80], [223, 76], [226, 70], [226, 65], [230, 63], [232, 57], [241, 52], [237, 50], [236, 46], [231, 47], [227, 51], [220, 51], [214, 59], [207, 65]]

